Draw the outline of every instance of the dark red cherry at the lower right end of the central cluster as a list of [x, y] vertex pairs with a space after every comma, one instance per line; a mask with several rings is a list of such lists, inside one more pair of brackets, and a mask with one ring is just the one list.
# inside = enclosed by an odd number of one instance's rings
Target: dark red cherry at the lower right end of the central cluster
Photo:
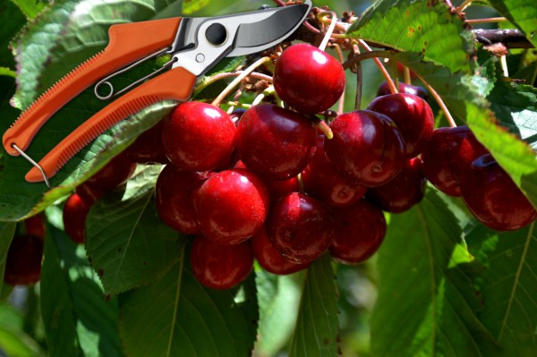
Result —
[[367, 200], [338, 208], [336, 233], [330, 255], [344, 264], [358, 264], [379, 250], [386, 235], [386, 220], [380, 208]]

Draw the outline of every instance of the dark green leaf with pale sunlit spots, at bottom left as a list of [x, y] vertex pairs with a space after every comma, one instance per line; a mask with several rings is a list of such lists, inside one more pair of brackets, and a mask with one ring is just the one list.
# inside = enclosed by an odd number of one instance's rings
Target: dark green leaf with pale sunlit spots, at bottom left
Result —
[[106, 301], [81, 246], [47, 225], [41, 311], [50, 356], [122, 356], [118, 308]]

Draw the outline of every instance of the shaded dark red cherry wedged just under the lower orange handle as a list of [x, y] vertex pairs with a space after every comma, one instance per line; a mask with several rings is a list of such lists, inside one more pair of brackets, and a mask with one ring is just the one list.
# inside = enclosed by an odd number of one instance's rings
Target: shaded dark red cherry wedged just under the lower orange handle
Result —
[[142, 132], [131, 146], [125, 149], [125, 155], [137, 164], [168, 164], [170, 161], [164, 153], [162, 131], [164, 120], [159, 121], [149, 130]]

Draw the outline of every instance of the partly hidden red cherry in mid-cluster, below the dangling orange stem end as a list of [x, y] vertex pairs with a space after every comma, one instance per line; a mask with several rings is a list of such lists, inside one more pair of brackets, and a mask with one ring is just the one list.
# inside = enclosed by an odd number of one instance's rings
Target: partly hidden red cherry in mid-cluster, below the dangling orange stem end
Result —
[[318, 141], [310, 164], [302, 172], [302, 179], [304, 190], [330, 207], [352, 205], [367, 190], [337, 174], [325, 154], [324, 140]]

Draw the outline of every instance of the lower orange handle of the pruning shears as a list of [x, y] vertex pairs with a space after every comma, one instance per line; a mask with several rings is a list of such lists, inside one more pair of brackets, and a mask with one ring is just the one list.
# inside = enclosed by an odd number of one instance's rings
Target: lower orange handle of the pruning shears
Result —
[[[116, 99], [104, 109], [93, 115], [60, 141], [54, 149], [39, 161], [47, 178], [52, 177], [71, 157], [94, 140], [102, 132], [121, 122], [129, 115], [139, 112], [146, 106], [161, 100], [176, 99], [186, 101], [192, 95], [197, 77], [183, 69], [165, 72], [141, 86], [132, 89]], [[37, 167], [33, 167], [25, 176], [26, 181], [37, 183], [44, 181]]]

